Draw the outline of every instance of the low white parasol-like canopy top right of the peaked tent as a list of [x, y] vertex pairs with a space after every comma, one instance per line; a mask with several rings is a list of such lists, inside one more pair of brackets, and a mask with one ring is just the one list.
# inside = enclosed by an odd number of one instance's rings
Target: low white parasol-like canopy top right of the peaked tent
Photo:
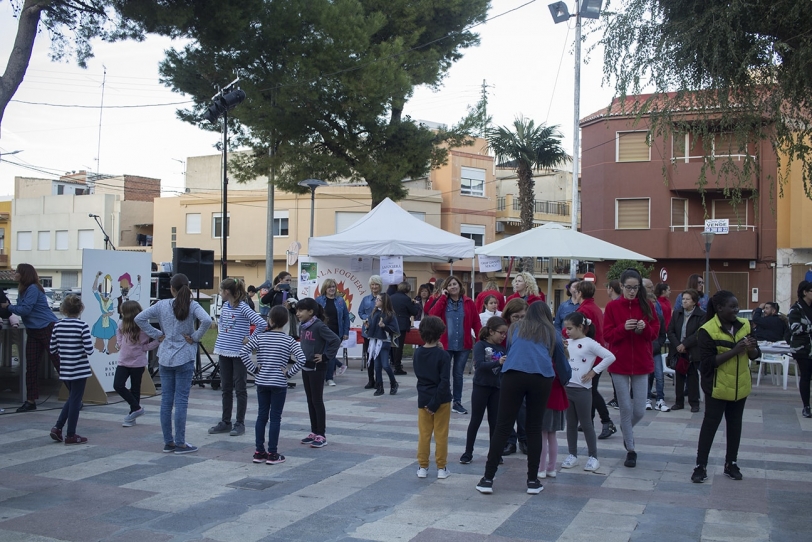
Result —
[[487, 256], [517, 256], [520, 258], [655, 261], [648, 256], [607, 243], [591, 235], [573, 231], [553, 222], [479, 247], [476, 249], [476, 253]]

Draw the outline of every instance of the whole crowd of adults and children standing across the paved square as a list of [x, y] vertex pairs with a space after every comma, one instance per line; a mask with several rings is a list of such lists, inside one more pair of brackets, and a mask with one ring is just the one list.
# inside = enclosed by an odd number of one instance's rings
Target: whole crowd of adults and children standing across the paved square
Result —
[[[88, 357], [93, 352], [89, 328], [80, 319], [84, 307], [78, 297], [67, 296], [61, 306], [64, 318], [58, 320], [47, 305], [36, 270], [21, 264], [16, 278], [20, 283], [17, 303], [4, 302], [0, 308], [19, 315], [28, 330], [28, 400], [18, 412], [36, 409], [37, 361], [48, 352], [69, 390], [50, 436], [65, 444], [85, 443], [88, 439], [76, 432], [90, 376]], [[219, 285], [223, 307], [214, 353], [220, 369], [222, 415], [209, 433], [239, 436], [245, 432], [247, 378], [252, 374], [258, 404], [253, 456], [257, 463], [285, 461], [278, 451], [281, 417], [287, 381], [300, 371], [310, 417], [310, 433], [301, 442], [313, 448], [327, 445], [324, 387], [334, 385], [335, 376], [346, 368], [337, 353], [350, 333], [349, 308], [337, 295], [335, 281], [325, 280], [316, 299], [299, 300], [291, 291], [290, 279], [289, 273], [282, 272], [259, 291], [231, 278]], [[122, 304], [114, 388], [129, 405], [122, 425], [131, 427], [145, 412], [140, 383], [147, 352], [157, 348], [163, 451], [185, 454], [197, 450], [186, 439], [186, 412], [198, 343], [212, 319], [192, 299], [187, 277], [175, 274], [170, 286], [171, 299], [144, 310], [134, 301]], [[724, 418], [724, 473], [741, 480], [738, 448], [752, 385], [750, 364], [761, 356], [759, 339], [789, 341], [800, 371], [802, 414], [812, 417], [812, 283], [798, 285], [797, 300], [786, 321], [775, 303], [760, 307], [753, 318], [755, 329], [749, 320], [738, 317], [739, 303], [731, 292], [706, 295], [699, 275], [691, 276], [673, 307], [669, 285], [654, 285], [635, 269], [627, 269], [606, 287], [611, 300], [602, 311], [594, 301], [594, 282], [570, 281], [568, 300], [554, 318], [544, 294], [527, 273], [513, 279], [511, 296], [505, 297], [495, 283], [489, 283], [476, 301], [454, 275], [421, 285], [414, 298], [407, 282], [384, 292], [381, 277], [370, 278], [370, 294], [360, 301], [357, 312], [369, 376], [365, 388], [374, 390], [373, 396], [385, 393], [384, 372], [389, 394], [398, 393], [396, 377], [406, 374], [404, 335], [412, 321], [419, 321], [423, 344], [413, 354], [419, 478], [428, 475], [432, 437], [437, 477], [450, 475], [449, 419], [452, 413], [468, 414], [463, 406], [463, 374], [472, 353], [470, 423], [459, 462], [474, 461], [474, 444], [487, 414], [489, 447], [476, 486], [481, 493], [493, 492], [498, 467], [505, 455], [516, 452], [517, 444], [527, 455], [527, 492], [539, 493], [541, 480], [557, 475], [556, 434], [564, 430], [568, 455], [560, 467], [571, 469], [580, 464], [578, 438], [583, 433], [587, 448], [584, 470], [599, 469], [598, 440], [612, 437], [618, 429], [598, 391], [605, 372], [612, 382], [614, 397], [608, 405], [618, 410], [627, 468], [636, 467], [634, 428], [647, 409], [684, 409], [687, 395], [687, 406], [699, 412], [704, 393], [704, 419], [691, 479], [696, 483], [707, 479], [709, 452]], [[252, 291], [259, 294], [259, 312], [253, 307]], [[151, 320], [157, 320], [160, 327], [154, 327]], [[670, 346], [664, 360], [666, 341]], [[676, 398], [670, 407], [663, 390], [666, 366], [675, 373]], [[594, 427], [596, 412], [601, 421], [599, 433]]]

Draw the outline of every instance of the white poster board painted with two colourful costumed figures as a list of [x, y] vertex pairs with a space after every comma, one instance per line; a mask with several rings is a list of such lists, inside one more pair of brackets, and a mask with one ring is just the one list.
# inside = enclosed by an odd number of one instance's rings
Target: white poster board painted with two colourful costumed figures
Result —
[[82, 320], [90, 326], [90, 366], [105, 392], [113, 390], [118, 365], [116, 329], [125, 301], [149, 306], [152, 256], [146, 252], [85, 249], [82, 251]]

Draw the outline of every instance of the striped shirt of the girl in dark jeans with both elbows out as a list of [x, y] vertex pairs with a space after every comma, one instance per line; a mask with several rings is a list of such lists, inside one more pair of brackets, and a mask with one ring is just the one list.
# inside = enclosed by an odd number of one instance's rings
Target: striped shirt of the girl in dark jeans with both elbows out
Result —
[[[257, 352], [257, 363], [251, 352]], [[288, 369], [291, 356], [296, 363]], [[305, 355], [296, 339], [281, 331], [255, 333], [240, 350], [243, 365], [254, 375], [257, 386], [285, 387], [287, 379], [299, 372], [305, 364]], [[257, 367], [259, 365], [259, 367]]]

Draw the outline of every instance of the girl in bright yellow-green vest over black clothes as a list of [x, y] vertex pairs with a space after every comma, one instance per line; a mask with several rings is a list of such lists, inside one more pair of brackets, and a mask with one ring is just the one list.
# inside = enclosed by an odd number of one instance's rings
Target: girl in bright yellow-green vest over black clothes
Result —
[[719, 290], [708, 303], [705, 324], [697, 332], [699, 342], [699, 372], [705, 392], [705, 417], [699, 430], [696, 468], [691, 481], [702, 483], [708, 478], [708, 455], [713, 437], [725, 418], [724, 473], [741, 480], [736, 464], [742, 436], [744, 403], [752, 389], [750, 360], [761, 356], [758, 341], [750, 332], [750, 321], [738, 318], [739, 301], [733, 292]]

